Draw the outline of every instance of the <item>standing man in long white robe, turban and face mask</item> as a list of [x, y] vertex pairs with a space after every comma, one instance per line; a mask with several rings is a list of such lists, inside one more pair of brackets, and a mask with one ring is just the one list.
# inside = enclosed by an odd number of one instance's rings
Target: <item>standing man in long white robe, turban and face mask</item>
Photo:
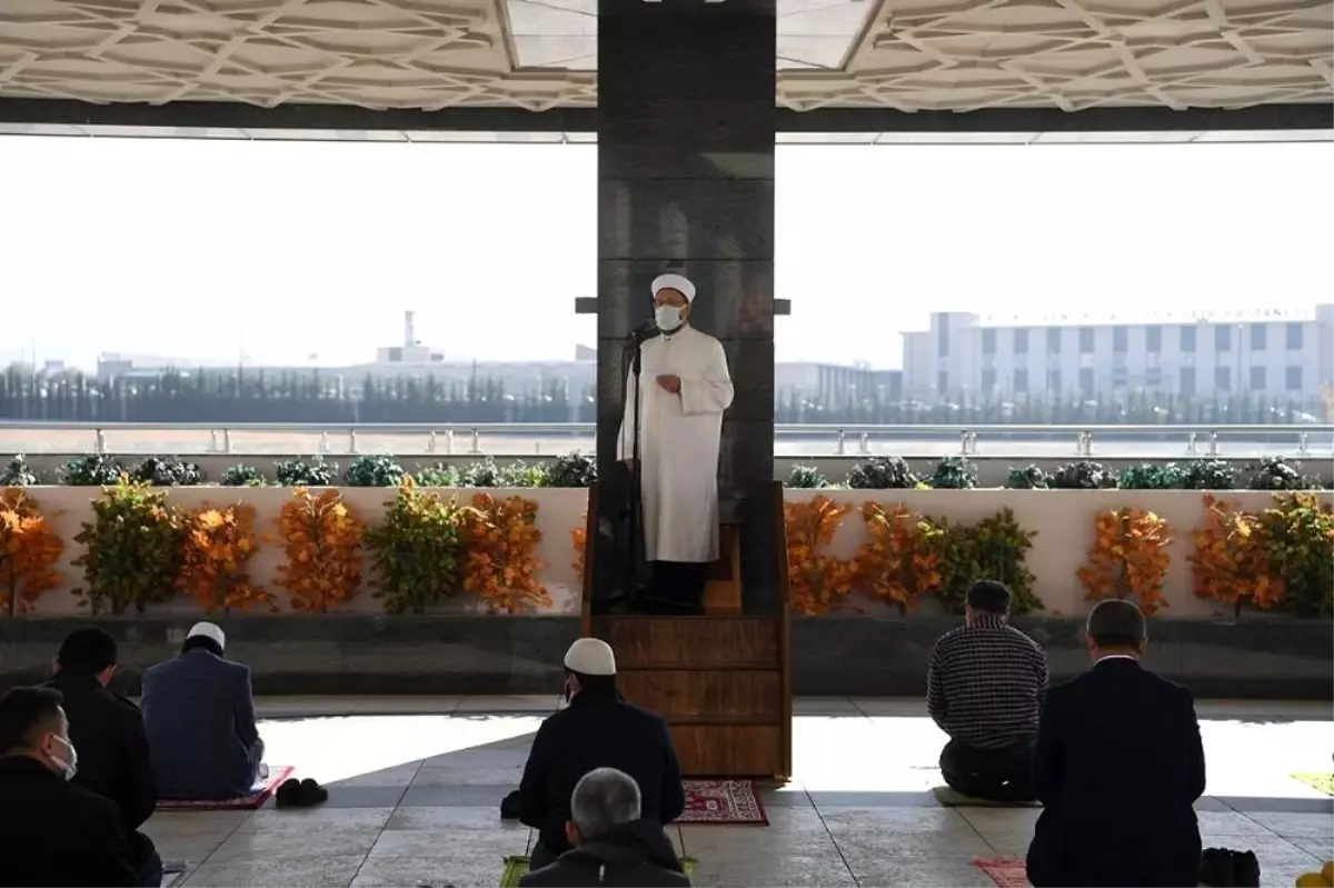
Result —
[[690, 324], [695, 284], [662, 275], [652, 297], [662, 335], [642, 345], [638, 391], [631, 369], [616, 455], [635, 468], [638, 401], [650, 612], [698, 613], [704, 567], [718, 559], [718, 453], [732, 380], [722, 343]]

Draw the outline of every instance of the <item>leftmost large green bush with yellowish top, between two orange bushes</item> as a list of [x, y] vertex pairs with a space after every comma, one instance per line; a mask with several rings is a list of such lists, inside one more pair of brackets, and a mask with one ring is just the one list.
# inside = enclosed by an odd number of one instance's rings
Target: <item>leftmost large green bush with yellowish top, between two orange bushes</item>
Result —
[[184, 537], [167, 495], [121, 480], [92, 501], [92, 512], [75, 536], [84, 547], [73, 561], [84, 573], [84, 585], [73, 591], [79, 607], [121, 615], [169, 599]]

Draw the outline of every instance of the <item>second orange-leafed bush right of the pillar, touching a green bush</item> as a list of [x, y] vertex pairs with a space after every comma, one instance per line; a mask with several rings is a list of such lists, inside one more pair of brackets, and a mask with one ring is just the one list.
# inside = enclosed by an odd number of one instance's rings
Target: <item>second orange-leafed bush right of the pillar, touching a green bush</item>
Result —
[[862, 519], [871, 540], [858, 548], [852, 560], [859, 589], [900, 611], [912, 611], [920, 596], [944, 584], [940, 528], [902, 504], [864, 503]]

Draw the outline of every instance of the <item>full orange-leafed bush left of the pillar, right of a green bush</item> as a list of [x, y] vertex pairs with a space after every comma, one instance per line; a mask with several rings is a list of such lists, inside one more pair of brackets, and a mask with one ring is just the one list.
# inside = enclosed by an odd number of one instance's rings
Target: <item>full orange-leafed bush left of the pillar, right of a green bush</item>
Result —
[[538, 580], [546, 564], [538, 557], [536, 503], [476, 493], [463, 519], [463, 537], [468, 551], [463, 588], [480, 595], [491, 613], [551, 607], [547, 587]]

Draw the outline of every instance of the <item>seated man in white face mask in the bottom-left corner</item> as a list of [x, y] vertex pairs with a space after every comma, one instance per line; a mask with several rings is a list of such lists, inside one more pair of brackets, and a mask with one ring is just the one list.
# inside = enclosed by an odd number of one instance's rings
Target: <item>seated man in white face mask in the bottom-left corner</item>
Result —
[[77, 753], [53, 688], [0, 697], [0, 884], [148, 888], [116, 803], [71, 783]]

